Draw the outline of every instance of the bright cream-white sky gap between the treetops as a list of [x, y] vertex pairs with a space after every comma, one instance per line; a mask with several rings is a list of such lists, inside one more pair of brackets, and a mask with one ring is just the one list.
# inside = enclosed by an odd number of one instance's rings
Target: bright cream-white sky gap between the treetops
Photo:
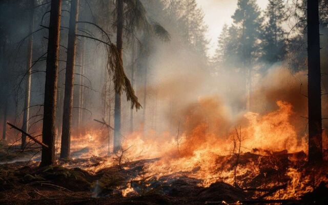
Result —
[[[196, 0], [204, 11], [204, 21], [208, 25], [207, 37], [210, 40], [209, 55], [212, 56], [217, 47], [217, 38], [224, 24], [232, 23], [231, 16], [237, 8], [237, 0]], [[268, 0], [257, 0], [257, 4], [263, 10]]]

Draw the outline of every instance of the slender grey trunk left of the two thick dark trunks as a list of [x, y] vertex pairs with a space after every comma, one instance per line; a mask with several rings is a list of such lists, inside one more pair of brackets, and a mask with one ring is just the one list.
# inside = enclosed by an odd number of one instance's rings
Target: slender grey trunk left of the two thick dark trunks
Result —
[[[29, 33], [33, 32], [34, 27], [34, 0], [31, 0], [29, 7]], [[29, 129], [29, 115], [30, 115], [30, 95], [31, 95], [31, 67], [32, 67], [32, 56], [33, 56], [33, 35], [30, 35], [27, 48], [27, 75], [26, 75], [26, 86], [25, 86], [25, 101], [24, 101], [24, 115], [23, 115], [23, 126], [22, 130], [28, 132]], [[24, 149], [26, 146], [26, 135], [22, 134], [22, 146]]]

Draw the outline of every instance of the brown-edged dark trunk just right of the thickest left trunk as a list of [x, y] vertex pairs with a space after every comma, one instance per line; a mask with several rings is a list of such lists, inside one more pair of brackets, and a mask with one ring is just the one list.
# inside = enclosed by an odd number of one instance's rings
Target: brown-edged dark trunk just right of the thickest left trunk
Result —
[[71, 1], [70, 11], [70, 28], [68, 32], [67, 46], [67, 63], [65, 75], [65, 94], [64, 94], [64, 111], [63, 111], [63, 128], [61, 133], [60, 158], [70, 156], [71, 147], [71, 128], [72, 128], [72, 108], [73, 108], [73, 84], [74, 84], [74, 67], [76, 56], [76, 31], [78, 18], [79, 0]]

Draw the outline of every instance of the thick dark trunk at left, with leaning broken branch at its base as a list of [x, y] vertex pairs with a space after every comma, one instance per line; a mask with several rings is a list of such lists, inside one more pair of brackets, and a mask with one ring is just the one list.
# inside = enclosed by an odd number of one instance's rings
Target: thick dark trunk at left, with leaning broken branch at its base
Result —
[[59, 58], [61, 0], [51, 1], [48, 52], [46, 66], [46, 85], [44, 99], [44, 119], [42, 129], [43, 143], [48, 148], [42, 148], [40, 166], [55, 163], [55, 121], [56, 121], [56, 95]]

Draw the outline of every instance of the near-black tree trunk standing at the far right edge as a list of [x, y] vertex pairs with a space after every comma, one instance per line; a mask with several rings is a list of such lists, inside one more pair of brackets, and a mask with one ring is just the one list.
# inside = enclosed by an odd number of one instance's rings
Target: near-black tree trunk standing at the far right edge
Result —
[[309, 162], [322, 161], [321, 73], [318, 0], [308, 1]]

